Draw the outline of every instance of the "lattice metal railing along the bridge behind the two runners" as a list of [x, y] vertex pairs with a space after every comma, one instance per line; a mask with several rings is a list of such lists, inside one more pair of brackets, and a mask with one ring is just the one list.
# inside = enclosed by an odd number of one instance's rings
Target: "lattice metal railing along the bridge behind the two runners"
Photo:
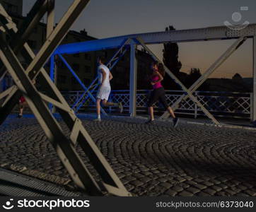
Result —
[[[73, 105], [81, 96], [83, 91], [62, 92], [69, 105]], [[137, 114], [147, 113], [147, 101], [151, 90], [137, 90], [136, 94], [136, 112]], [[173, 105], [184, 92], [180, 90], [165, 90], [165, 96], [168, 104]], [[96, 92], [93, 92], [96, 95]], [[206, 107], [211, 114], [216, 117], [232, 117], [250, 119], [252, 114], [252, 93], [226, 93], [226, 92], [211, 92], [211, 91], [196, 91], [194, 96], [199, 102]], [[87, 96], [86, 96], [87, 97]], [[113, 102], [122, 102], [124, 105], [124, 114], [129, 113], [129, 90], [112, 90], [110, 100]], [[162, 105], [156, 103], [155, 111], [161, 114], [164, 109]], [[117, 113], [117, 108], [106, 107], [110, 114]], [[88, 98], [79, 112], [95, 112], [95, 103]], [[187, 98], [182, 101], [175, 111], [177, 114], [190, 115], [194, 118], [204, 116], [202, 110], [197, 105]]]

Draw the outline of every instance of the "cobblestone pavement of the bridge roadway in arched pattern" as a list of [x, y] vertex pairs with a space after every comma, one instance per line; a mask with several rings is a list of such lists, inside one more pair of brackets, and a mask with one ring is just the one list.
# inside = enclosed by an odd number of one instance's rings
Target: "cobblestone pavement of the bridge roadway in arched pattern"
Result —
[[[129, 192], [138, 196], [256, 196], [256, 131], [186, 123], [173, 129], [170, 122], [144, 122], [83, 120]], [[6, 120], [0, 128], [0, 155], [2, 167], [22, 167], [30, 175], [39, 172], [47, 180], [59, 177], [61, 184], [64, 179], [69, 182], [33, 118]]]

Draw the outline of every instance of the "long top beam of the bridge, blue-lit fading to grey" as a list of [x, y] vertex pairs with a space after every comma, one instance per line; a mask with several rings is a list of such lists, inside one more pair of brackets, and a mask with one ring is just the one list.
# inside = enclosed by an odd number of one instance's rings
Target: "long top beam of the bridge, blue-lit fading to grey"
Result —
[[[110, 37], [100, 40], [90, 40], [59, 46], [54, 54], [76, 54], [81, 52], [93, 52], [105, 49], [117, 49], [125, 39], [136, 39], [141, 37], [146, 45], [162, 44], [165, 42], [198, 42], [207, 40], [237, 39], [241, 35], [245, 37], [256, 36], [256, 24], [250, 24], [243, 30], [231, 30], [226, 26], [210, 28], [198, 28], [189, 30], [171, 30], [155, 33], [140, 33]], [[136, 43], [139, 45], [139, 42]]]

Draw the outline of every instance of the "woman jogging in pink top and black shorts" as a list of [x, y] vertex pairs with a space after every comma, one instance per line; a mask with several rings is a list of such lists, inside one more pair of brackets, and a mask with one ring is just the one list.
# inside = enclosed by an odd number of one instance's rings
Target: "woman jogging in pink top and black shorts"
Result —
[[165, 76], [165, 69], [163, 64], [159, 64], [157, 61], [152, 64], [153, 73], [150, 77], [151, 85], [153, 86], [153, 91], [151, 92], [151, 96], [149, 98], [148, 107], [149, 107], [149, 115], [150, 120], [146, 122], [146, 124], [153, 124], [153, 105], [156, 102], [161, 102], [166, 110], [170, 113], [170, 116], [173, 117], [173, 126], [176, 127], [178, 125], [179, 119], [175, 117], [173, 110], [169, 107], [166, 98], [165, 98], [165, 90], [161, 84], [163, 81], [163, 77]]

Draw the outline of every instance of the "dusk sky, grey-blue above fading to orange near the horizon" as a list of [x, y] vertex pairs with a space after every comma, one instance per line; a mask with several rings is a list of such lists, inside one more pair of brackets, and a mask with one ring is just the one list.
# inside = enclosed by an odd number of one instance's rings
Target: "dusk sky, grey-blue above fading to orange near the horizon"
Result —
[[[35, 0], [23, 2], [23, 13], [26, 15]], [[56, 22], [72, 2], [56, 0]], [[241, 6], [248, 6], [249, 10], [240, 11]], [[234, 12], [240, 12], [243, 16], [239, 23], [245, 20], [256, 23], [255, 0], [91, 0], [72, 29], [85, 28], [88, 35], [105, 38], [163, 31], [168, 25], [173, 25], [176, 30], [205, 28], [223, 25], [225, 20], [234, 23]], [[182, 71], [199, 68], [204, 73], [233, 42], [235, 40], [179, 44]], [[149, 47], [159, 57], [162, 56], [163, 45]], [[251, 39], [219, 67], [211, 78], [231, 78], [235, 73], [243, 77], [252, 76]]]

